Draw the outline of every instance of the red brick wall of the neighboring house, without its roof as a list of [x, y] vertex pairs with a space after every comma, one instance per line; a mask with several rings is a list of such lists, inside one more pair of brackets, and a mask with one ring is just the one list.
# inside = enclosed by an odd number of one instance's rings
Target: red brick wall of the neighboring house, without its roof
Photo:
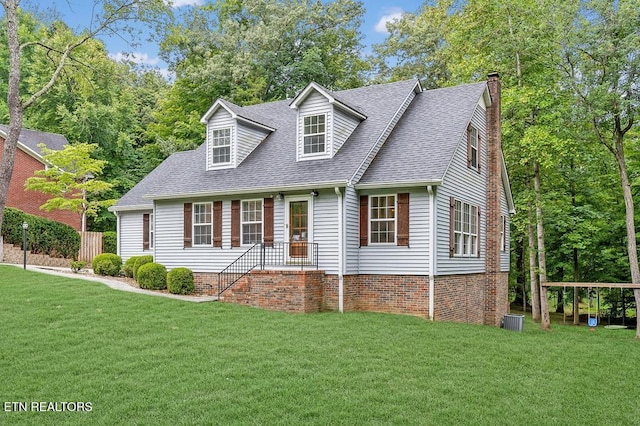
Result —
[[[0, 159], [2, 159], [3, 148], [4, 139], [0, 138]], [[40, 210], [40, 206], [47, 201], [49, 196], [40, 192], [25, 191], [24, 183], [27, 179], [33, 176], [36, 170], [42, 170], [43, 168], [44, 166], [41, 162], [26, 154], [20, 148], [16, 149], [16, 159], [11, 183], [9, 184], [9, 194], [7, 195], [7, 207], [14, 207], [25, 213], [66, 223], [79, 231], [80, 214], [65, 210], [53, 210], [51, 212]]]

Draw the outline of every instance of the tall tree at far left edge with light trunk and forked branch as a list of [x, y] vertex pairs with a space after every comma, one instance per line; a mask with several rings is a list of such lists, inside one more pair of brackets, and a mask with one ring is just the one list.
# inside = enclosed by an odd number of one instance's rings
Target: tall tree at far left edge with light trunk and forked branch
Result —
[[[24, 112], [44, 97], [70, 66], [87, 66], [74, 60], [74, 53], [97, 34], [119, 33], [132, 30], [132, 21], [151, 21], [167, 11], [162, 0], [96, 0], [91, 23], [80, 34], [69, 38], [32, 39], [25, 41], [20, 32], [20, 0], [0, 0], [4, 9], [4, 24], [8, 52], [7, 113], [9, 129], [4, 141], [0, 162], [0, 226], [6, 204], [9, 182], [13, 173], [18, 136], [22, 129]], [[22, 82], [28, 73], [28, 64], [22, 62], [25, 52], [34, 57], [46, 57], [52, 68], [48, 78], [32, 91], [23, 92]], [[23, 67], [24, 65], [24, 67]], [[0, 245], [0, 250], [1, 250]]]

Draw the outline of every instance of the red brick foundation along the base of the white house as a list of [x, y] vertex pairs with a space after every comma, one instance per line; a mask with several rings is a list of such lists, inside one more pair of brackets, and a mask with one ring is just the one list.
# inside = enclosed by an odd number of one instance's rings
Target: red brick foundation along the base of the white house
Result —
[[[196, 292], [217, 293], [217, 274], [195, 273]], [[500, 324], [508, 311], [508, 274], [498, 274], [495, 306], [488, 315], [486, 274], [435, 277], [434, 319], [471, 324]], [[226, 290], [222, 302], [284, 312], [338, 310], [338, 276], [323, 271], [252, 271]], [[429, 318], [429, 277], [348, 275], [344, 310], [385, 312]], [[491, 318], [487, 321], [487, 316]]]

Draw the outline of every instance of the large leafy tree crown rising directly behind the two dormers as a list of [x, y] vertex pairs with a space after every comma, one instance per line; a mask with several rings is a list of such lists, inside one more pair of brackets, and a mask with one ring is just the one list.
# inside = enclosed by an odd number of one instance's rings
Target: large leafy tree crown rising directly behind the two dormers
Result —
[[247, 105], [292, 97], [311, 81], [363, 83], [355, 0], [221, 0], [186, 13], [161, 44], [176, 81], [150, 130], [167, 154], [202, 142], [200, 117], [218, 97]]

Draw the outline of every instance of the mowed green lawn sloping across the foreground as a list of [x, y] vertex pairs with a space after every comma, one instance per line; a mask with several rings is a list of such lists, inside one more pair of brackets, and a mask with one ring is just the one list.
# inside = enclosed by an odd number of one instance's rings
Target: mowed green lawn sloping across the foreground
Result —
[[286, 314], [0, 266], [0, 424], [637, 424], [638, 366], [633, 330]]

